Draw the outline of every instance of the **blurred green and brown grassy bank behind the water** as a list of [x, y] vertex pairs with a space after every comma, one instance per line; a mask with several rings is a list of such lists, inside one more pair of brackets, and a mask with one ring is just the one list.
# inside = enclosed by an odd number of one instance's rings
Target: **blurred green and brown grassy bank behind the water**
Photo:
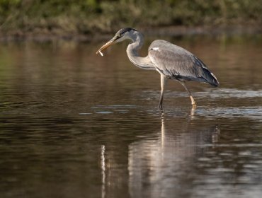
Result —
[[131, 26], [254, 27], [262, 0], [0, 0], [0, 34], [90, 36]]

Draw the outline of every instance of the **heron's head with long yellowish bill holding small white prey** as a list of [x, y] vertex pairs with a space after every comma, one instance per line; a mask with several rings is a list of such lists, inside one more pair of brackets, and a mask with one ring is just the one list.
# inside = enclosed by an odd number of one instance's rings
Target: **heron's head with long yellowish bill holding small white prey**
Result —
[[133, 28], [122, 28], [121, 30], [118, 30], [117, 33], [115, 33], [115, 36], [113, 38], [111, 38], [108, 42], [106, 42], [105, 45], [103, 45], [97, 52], [101, 53], [103, 50], [106, 50], [106, 48], [108, 48], [110, 45], [113, 45], [116, 42], [121, 42], [123, 40], [126, 39], [130, 39], [132, 38], [132, 35], [134, 35], [134, 33], [137, 32], [137, 30], [133, 29]]

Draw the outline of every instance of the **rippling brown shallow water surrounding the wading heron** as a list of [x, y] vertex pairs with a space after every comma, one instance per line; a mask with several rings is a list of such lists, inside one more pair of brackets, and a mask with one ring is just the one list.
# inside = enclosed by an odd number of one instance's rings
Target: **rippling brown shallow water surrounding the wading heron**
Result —
[[1, 197], [261, 197], [261, 37], [165, 39], [220, 81], [188, 83], [196, 109], [169, 81], [159, 111], [127, 43], [1, 43]]

